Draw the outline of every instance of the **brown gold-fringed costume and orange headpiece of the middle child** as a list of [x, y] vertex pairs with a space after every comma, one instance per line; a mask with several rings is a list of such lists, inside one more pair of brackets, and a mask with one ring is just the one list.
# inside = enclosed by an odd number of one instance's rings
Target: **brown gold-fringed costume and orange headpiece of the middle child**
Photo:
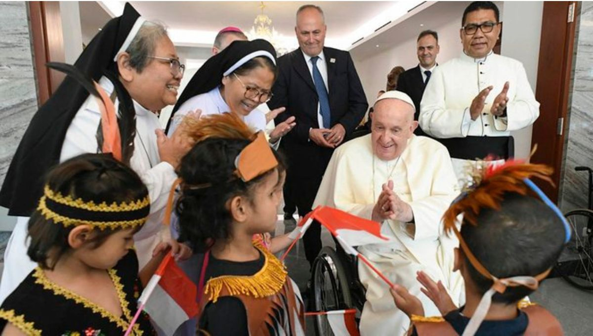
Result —
[[[244, 182], [278, 166], [263, 132], [254, 136], [234, 162], [237, 169], [232, 178]], [[184, 181], [180, 185], [181, 190], [193, 192], [215, 187], [212, 183], [192, 185]], [[181, 222], [181, 229], [192, 224]], [[259, 251], [257, 260], [219, 260], [208, 249], [201, 264], [196, 264], [200, 270], [196, 300], [201, 308], [197, 334], [304, 335], [304, 305], [297, 284], [267, 248], [258, 241], [253, 245]]]

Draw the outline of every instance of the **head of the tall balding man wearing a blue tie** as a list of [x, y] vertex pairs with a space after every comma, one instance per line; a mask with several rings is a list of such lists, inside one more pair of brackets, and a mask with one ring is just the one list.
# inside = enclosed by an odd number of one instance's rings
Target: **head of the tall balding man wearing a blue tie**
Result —
[[319, 55], [326, 40], [326, 29], [323, 16], [317, 9], [307, 8], [300, 12], [295, 33], [301, 50], [311, 57]]

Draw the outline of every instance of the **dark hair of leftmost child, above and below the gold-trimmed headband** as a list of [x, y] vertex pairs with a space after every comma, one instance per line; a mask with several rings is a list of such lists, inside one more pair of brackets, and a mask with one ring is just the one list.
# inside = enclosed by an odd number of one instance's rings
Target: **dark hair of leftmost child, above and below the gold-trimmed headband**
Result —
[[[71, 196], [73, 200], [82, 199], [95, 204], [119, 204], [148, 196], [148, 190], [138, 174], [110, 153], [83, 154], [68, 159], [49, 171], [46, 185], [56, 193]], [[53, 269], [59, 258], [69, 251], [68, 235], [74, 227], [46, 219], [40, 210], [35, 210], [28, 222], [31, 238], [28, 256], [40, 267]], [[96, 229], [97, 234], [90, 241], [93, 248], [99, 247], [117, 230]]]

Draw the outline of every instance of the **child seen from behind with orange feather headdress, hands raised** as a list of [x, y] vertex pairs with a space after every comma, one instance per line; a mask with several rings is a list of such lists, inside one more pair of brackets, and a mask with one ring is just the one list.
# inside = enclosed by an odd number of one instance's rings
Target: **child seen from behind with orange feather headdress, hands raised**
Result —
[[[420, 300], [395, 285], [395, 303], [412, 320], [409, 335], [563, 334], [549, 311], [522, 300], [537, 290], [570, 239], [560, 210], [529, 180], [550, 181], [550, 174], [543, 165], [491, 166], [451, 204], [444, 224], [460, 241], [455, 270], [466, 283], [466, 304], [457, 308], [440, 281], [420, 272], [422, 292], [442, 314], [425, 318]], [[458, 215], [463, 215], [461, 230]]]

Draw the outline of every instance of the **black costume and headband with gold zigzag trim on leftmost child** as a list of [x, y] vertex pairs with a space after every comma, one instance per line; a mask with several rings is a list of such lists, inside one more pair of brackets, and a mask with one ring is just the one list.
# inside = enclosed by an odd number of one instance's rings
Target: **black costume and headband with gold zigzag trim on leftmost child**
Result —
[[[107, 206], [93, 200], [73, 200], [46, 185], [37, 210], [47, 220], [45, 225], [84, 224], [101, 230], [142, 226], [149, 208], [148, 197]], [[106, 273], [119, 297], [122, 316], [54, 283], [37, 266], [2, 303], [0, 330], [11, 323], [26, 335], [122, 335], [138, 309], [136, 302], [142, 292], [135, 251], [130, 250]], [[132, 335], [154, 334], [148, 315], [142, 315], [138, 321]]]

